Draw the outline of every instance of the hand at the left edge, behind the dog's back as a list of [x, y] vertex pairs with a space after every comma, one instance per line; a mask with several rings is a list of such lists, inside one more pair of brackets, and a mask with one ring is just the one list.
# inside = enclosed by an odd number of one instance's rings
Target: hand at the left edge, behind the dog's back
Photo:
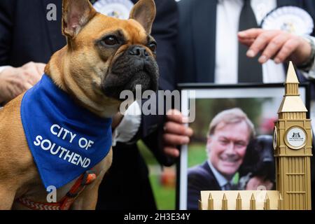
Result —
[[29, 62], [21, 67], [8, 67], [0, 73], [0, 102], [6, 103], [35, 85], [43, 76], [45, 64]]

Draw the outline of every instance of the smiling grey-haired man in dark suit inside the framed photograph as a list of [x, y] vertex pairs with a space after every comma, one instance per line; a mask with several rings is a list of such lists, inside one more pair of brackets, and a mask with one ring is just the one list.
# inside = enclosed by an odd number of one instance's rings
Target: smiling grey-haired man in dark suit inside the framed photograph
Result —
[[254, 137], [253, 123], [241, 109], [218, 113], [209, 125], [208, 159], [188, 169], [188, 209], [198, 209], [201, 190], [233, 190], [233, 177], [241, 166], [249, 141]]

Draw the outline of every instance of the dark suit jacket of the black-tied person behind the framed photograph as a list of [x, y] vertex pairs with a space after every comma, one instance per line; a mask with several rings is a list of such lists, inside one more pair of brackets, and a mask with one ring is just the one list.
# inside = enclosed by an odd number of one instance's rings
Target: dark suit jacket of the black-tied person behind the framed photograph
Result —
[[[179, 1], [179, 83], [214, 83], [216, 3], [217, 0]], [[277, 4], [304, 8], [315, 18], [314, 1], [277, 0]]]

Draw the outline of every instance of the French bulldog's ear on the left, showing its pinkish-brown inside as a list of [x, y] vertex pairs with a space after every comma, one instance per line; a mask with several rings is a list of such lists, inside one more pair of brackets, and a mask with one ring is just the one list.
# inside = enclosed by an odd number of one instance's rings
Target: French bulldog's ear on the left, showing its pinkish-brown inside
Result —
[[97, 12], [88, 0], [62, 1], [62, 34], [74, 38]]

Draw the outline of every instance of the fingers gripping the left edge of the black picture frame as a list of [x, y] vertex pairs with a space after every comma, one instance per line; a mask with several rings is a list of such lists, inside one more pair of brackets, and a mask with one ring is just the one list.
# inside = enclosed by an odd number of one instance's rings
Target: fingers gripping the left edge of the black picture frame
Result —
[[167, 122], [163, 134], [164, 152], [174, 158], [179, 157], [179, 150], [176, 146], [188, 144], [190, 137], [193, 136], [193, 130], [184, 126], [184, 123], [188, 123], [188, 118], [183, 116], [180, 111], [167, 111]]

